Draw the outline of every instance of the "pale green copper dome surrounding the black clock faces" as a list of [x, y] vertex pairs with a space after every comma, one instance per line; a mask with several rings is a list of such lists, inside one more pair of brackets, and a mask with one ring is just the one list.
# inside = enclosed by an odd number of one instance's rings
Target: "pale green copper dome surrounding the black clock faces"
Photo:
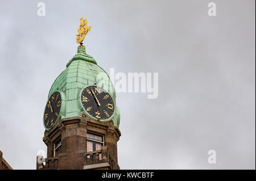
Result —
[[53, 92], [60, 92], [61, 104], [63, 104], [60, 111], [61, 118], [81, 116], [81, 113], [85, 112], [80, 102], [81, 92], [88, 86], [101, 87], [112, 96], [115, 109], [109, 120], [113, 120], [114, 125], [118, 127], [120, 113], [115, 103], [114, 86], [109, 75], [97, 65], [93, 57], [86, 54], [82, 45], [77, 48], [77, 54], [68, 62], [67, 68], [56, 78], [48, 99]]

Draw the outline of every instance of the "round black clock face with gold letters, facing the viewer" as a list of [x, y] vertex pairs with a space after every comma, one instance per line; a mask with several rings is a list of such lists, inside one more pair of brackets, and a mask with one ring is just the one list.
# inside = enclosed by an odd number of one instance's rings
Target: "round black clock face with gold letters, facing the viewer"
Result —
[[81, 95], [82, 106], [97, 120], [109, 119], [114, 113], [114, 101], [104, 89], [97, 86], [86, 87]]

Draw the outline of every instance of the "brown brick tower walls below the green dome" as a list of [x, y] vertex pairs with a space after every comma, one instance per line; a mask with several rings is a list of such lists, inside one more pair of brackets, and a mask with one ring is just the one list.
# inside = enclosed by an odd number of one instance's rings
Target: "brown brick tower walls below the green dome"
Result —
[[[101, 150], [86, 151], [87, 132], [104, 137]], [[121, 132], [114, 126], [113, 120], [103, 123], [90, 119], [85, 113], [82, 117], [60, 117], [53, 129], [44, 132], [46, 164], [38, 163], [40, 157], [37, 157], [36, 169], [119, 169], [117, 141], [120, 136]], [[55, 156], [54, 143], [60, 137], [61, 153]]]

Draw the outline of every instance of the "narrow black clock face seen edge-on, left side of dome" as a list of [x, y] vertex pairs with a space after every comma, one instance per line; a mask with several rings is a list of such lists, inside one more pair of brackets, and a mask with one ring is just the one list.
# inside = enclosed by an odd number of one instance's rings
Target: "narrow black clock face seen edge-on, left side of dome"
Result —
[[59, 92], [54, 92], [46, 104], [46, 110], [44, 110], [44, 127], [51, 129], [60, 114], [61, 96]]

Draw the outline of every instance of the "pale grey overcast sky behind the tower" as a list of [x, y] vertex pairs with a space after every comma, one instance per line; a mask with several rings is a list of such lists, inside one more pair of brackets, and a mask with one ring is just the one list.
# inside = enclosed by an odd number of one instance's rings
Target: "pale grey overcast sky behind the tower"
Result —
[[[0, 1], [0, 150], [36, 169], [53, 81], [76, 54], [159, 73], [159, 96], [117, 93], [121, 169], [255, 169], [255, 1]], [[208, 16], [208, 3], [216, 16]], [[208, 163], [216, 150], [217, 163]]]

